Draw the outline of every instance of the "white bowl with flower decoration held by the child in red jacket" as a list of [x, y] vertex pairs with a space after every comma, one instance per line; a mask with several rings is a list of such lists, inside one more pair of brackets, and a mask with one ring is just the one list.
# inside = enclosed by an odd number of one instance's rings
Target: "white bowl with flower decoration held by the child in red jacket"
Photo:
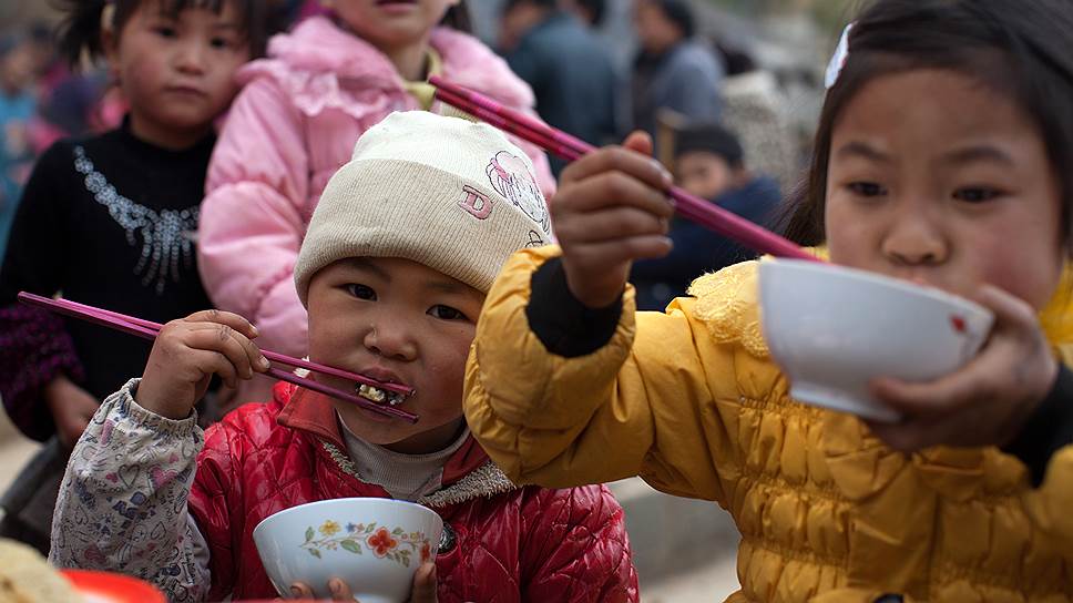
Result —
[[402, 603], [413, 572], [435, 559], [443, 520], [432, 510], [390, 499], [335, 499], [300, 504], [266, 518], [254, 542], [268, 578], [284, 597], [305, 582], [330, 599], [340, 578], [361, 603]]

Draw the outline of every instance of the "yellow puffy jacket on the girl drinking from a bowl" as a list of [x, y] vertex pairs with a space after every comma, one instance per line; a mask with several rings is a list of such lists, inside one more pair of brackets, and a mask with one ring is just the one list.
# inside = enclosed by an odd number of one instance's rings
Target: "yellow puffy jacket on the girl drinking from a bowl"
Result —
[[[510, 260], [467, 367], [466, 417], [513, 480], [640, 474], [716, 501], [742, 532], [732, 602], [1073, 601], [1073, 447], [1033, 489], [997, 448], [906, 456], [855, 417], [795, 402], [760, 334], [755, 263], [699, 278], [666, 314], [634, 313], [627, 290], [609, 345], [554, 356], [525, 306], [558, 254]], [[1073, 358], [1070, 316], [1043, 324]]]

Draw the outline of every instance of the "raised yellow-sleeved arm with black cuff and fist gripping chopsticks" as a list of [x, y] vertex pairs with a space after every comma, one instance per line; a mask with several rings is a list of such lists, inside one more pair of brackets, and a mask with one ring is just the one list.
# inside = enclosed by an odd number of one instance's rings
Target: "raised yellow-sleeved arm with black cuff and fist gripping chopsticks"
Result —
[[717, 401], [739, 399], [732, 370], [742, 348], [709, 337], [689, 308], [633, 311], [630, 265], [670, 251], [673, 206], [670, 175], [643, 154], [646, 136], [626, 147], [564, 171], [550, 204], [562, 257], [520, 253], [489, 292], [467, 367], [467, 421], [519, 483], [641, 474], [670, 493], [725, 501], [723, 477], [739, 458], [725, 421], [737, 408]]

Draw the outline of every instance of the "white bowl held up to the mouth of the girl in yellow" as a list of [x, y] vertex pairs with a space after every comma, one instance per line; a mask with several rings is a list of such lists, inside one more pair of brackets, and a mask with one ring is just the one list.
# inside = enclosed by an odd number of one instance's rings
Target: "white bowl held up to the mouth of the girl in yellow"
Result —
[[760, 263], [760, 318], [790, 396], [893, 422], [868, 389], [875, 377], [928, 381], [969, 361], [993, 316], [978, 304], [845, 266]]

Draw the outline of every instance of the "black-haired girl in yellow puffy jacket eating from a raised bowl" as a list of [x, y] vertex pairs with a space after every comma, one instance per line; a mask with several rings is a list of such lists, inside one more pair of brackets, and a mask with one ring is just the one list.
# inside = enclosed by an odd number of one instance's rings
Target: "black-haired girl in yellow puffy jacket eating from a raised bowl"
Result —
[[635, 135], [564, 172], [561, 251], [489, 293], [473, 433], [519, 483], [640, 474], [717, 501], [742, 533], [733, 602], [1073, 599], [1070, 31], [1067, 0], [878, 0], [831, 63], [793, 232], [995, 317], [961, 369], [872, 384], [901, 422], [791, 399], [755, 262], [634, 311], [625, 275], [667, 253], [673, 213]]

